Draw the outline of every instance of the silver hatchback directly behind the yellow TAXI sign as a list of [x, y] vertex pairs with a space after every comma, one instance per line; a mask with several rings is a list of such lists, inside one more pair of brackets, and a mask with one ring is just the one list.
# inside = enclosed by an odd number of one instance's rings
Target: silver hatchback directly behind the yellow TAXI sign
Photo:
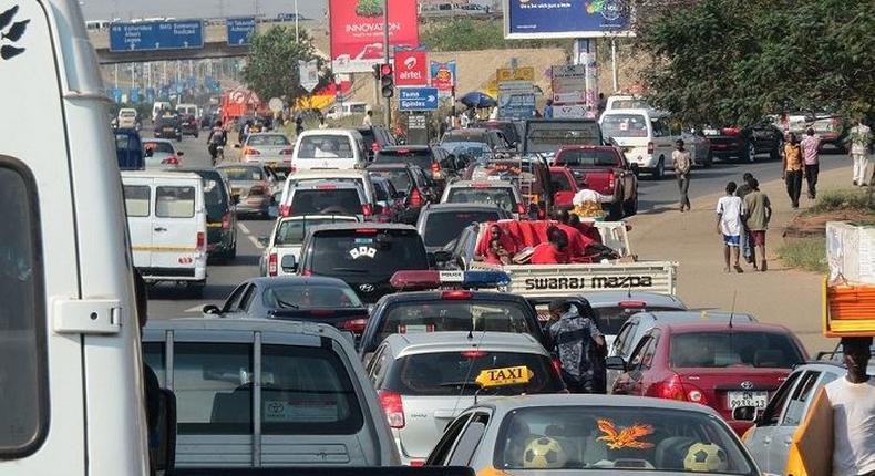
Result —
[[414, 466], [478, 397], [566, 392], [541, 343], [506, 332], [392, 334], [377, 349], [368, 376], [402, 463]]

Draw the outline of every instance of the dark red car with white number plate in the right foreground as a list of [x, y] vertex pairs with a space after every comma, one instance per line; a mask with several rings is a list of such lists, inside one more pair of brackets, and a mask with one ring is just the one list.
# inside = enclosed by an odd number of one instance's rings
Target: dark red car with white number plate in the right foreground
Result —
[[607, 366], [625, 371], [612, 393], [708, 405], [741, 435], [751, 422], [735, 421], [733, 410], [765, 408], [793, 366], [807, 358], [782, 325], [702, 320], [657, 322], [628, 363], [608, 358]]

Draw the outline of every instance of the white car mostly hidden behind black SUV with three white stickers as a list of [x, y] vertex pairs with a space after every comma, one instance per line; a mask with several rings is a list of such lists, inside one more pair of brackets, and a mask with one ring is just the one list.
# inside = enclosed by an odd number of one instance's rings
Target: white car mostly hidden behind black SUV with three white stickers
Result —
[[358, 218], [349, 215], [301, 215], [279, 218], [261, 255], [261, 276], [295, 275], [291, 269], [282, 267], [282, 260], [286, 256], [292, 256], [295, 262], [300, 262], [307, 230], [318, 225], [342, 221], [358, 221]]

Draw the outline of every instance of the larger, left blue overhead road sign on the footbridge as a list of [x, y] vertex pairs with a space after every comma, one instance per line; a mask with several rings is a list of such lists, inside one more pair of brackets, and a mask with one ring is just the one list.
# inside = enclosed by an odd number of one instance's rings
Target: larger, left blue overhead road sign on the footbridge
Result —
[[113, 23], [110, 51], [185, 50], [204, 48], [200, 20]]

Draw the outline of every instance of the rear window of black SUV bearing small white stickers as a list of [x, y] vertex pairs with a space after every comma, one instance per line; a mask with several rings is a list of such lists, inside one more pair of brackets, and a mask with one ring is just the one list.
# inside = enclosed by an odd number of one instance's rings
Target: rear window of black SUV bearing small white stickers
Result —
[[312, 240], [313, 275], [391, 277], [395, 271], [429, 269], [415, 230], [337, 230]]

